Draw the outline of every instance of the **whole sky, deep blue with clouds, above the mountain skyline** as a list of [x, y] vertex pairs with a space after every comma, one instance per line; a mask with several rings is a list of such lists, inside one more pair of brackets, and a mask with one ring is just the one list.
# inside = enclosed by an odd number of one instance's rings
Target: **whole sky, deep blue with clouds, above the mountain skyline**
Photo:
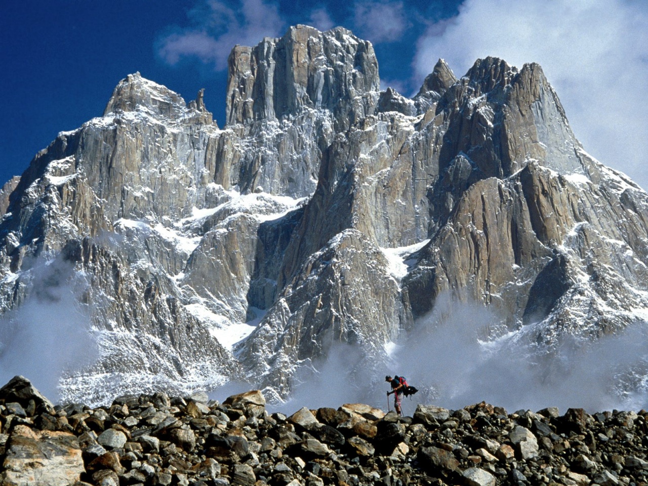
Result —
[[457, 76], [480, 57], [539, 62], [577, 137], [648, 188], [644, 0], [25, 0], [0, 13], [0, 183], [60, 131], [100, 116], [139, 71], [205, 104], [222, 126], [235, 44], [289, 25], [341, 25], [374, 44], [383, 87], [417, 91], [438, 58]]

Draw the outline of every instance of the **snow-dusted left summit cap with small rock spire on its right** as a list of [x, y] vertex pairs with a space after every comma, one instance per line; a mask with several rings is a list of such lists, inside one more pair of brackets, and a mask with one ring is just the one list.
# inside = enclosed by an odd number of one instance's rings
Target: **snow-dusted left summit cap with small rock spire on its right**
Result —
[[[211, 113], [205, 110], [203, 103], [203, 90], [187, 108], [185, 100], [178, 93], [143, 78], [139, 72], [126, 76], [117, 84], [104, 110], [104, 116], [119, 111], [138, 110], [170, 120], [185, 119], [194, 114], [192, 111], [199, 111], [203, 115], [203, 122], [211, 123]], [[205, 113], [208, 114], [207, 117], [204, 117]]]

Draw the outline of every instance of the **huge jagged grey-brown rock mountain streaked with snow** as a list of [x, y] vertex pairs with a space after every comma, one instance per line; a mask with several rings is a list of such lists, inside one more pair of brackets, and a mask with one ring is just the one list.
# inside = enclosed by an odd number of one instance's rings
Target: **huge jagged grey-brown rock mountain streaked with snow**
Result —
[[645, 319], [648, 194], [585, 152], [539, 65], [379, 87], [371, 43], [302, 25], [233, 49], [224, 128], [202, 91], [129, 75], [0, 193], [2, 353], [26, 308], [73, 308], [97, 349], [64, 401], [281, 400], [337, 343], [388, 364], [447, 296], [540, 353]]

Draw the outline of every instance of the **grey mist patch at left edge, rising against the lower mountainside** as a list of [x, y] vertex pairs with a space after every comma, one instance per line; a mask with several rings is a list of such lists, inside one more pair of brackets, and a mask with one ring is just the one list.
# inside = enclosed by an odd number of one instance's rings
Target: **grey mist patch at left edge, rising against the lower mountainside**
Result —
[[80, 303], [87, 283], [60, 258], [36, 260], [19, 279], [31, 288], [21, 307], [0, 316], [0, 382], [25, 376], [56, 403], [61, 376], [97, 358], [89, 312]]

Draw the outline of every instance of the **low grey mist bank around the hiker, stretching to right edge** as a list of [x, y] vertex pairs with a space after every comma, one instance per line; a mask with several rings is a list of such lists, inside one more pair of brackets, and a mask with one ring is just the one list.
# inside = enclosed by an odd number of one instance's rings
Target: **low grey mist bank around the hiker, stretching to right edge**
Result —
[[405, 415], [413, 415], [417, 404], [457, 410], [482, 401], [509, 412], [648, 408], [645, 323], [596, 340], [557, 336], [547, 349], [535, 341], [537, 324], [494, 332], [501, 322], [485, 306], [440, 297], [435, 310], [383, 356], [369, 359], [360, 348], [340, 344], [324, 360], [303, 367], [294, 392], [275, 408], [290, 414], [303, 406], [360, 402], [393, 410], [385, 375], [405, 376], [419, 389], [402, 399]]

